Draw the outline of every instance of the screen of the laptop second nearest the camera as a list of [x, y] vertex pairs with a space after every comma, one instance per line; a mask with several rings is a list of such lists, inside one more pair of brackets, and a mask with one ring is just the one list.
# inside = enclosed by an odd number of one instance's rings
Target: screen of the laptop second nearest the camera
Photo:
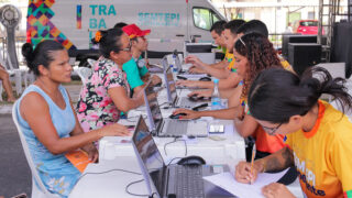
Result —
[[147, 106], [146, 111], [148, 119], [150, 121], [153, 121], [153, 123], [151, 123], [151, 128], [154, 128], [153, 130], [158, 131], [163, 123], [163, 116], [157, 103], [157, 98], [153, 97], [153, 94], [155, 92], [153, 87], [154, 86], [151, 82], [146, 85], [146, 87], [144, 88], [144, 99], [146, 99], [145, 106]]

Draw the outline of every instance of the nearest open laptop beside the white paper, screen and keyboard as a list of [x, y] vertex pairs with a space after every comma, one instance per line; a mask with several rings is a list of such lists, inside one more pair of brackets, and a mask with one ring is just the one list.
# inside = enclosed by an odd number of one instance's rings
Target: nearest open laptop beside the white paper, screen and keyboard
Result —
[[227, 165], [165, 165], [144, 119], [140, 116], [132, 138], [150, 196], [160, 198], [233, 197], [204, 180], [204, 176], [229, 172]]

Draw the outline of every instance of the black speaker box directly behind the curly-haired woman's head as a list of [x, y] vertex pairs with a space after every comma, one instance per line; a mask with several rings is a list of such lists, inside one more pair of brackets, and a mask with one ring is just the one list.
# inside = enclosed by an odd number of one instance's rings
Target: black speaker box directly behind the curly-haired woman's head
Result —
[[321, 62], [321, 45], [317, 43], [288, 43], [288, 62], [299, 76]]

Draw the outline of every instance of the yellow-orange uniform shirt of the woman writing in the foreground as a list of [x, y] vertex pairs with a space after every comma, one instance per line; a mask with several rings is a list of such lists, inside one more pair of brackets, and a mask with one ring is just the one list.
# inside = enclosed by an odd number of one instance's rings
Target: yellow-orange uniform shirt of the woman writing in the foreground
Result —
[[316, 125], [287, 135], [306, 197], [352, 198], [352, 123], [319, 101]]

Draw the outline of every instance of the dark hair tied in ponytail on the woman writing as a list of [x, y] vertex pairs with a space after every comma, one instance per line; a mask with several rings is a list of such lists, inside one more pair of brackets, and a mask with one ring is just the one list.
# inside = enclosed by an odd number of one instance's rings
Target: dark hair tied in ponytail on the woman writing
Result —
[[339, 101], [344, 113], [352, 108], [352, 97], [344, 84], [345, 79], [332, 78], [321, 67], [307, 69], [301, 78], [286, 69], [266, 69], [256, 77], [250, 89], [250, 111], [258, 120], [287, 123], [292, 116], [305, 116], [321, 95], [327, 94]]

